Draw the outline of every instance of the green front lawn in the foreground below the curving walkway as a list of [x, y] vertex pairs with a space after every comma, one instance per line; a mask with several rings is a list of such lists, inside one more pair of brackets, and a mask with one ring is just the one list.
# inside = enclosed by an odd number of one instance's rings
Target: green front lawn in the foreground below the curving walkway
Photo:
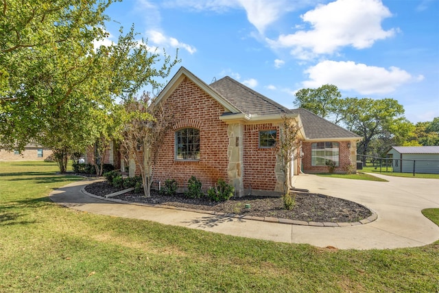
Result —
[[47, 198], [79, 180], [55, 171], [0, 162], [0, 292], [439, 291], [439, 242], [334, 251], [82, 213]]

